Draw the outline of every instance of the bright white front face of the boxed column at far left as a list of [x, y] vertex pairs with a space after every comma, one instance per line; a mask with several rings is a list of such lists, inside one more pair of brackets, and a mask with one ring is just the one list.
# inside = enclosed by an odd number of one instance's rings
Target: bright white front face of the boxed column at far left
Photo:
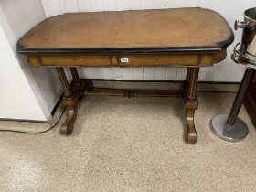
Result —
[[0, 82], [0, 118], [45, 120], [1, 25]]

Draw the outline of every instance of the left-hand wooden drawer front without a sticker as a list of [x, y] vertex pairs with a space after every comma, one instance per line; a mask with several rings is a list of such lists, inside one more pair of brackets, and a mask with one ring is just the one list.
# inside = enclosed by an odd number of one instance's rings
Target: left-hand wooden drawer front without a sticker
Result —
[[33, 66], [111, 66], [107, 55], [30, 55], [28, 62]]

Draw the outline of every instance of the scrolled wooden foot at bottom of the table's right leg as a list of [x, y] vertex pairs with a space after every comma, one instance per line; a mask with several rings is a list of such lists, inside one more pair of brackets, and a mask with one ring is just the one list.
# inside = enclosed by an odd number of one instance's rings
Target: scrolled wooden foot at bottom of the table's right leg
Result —
[[186, 118], [187, 118], [187, 133], [186, 138], [188, 143], [196, 144], [197, 143], [197, 130], [194, 123], [195, 111], [198, 108], [197, 101], [187, 101], [185, 105], [186, 109]]

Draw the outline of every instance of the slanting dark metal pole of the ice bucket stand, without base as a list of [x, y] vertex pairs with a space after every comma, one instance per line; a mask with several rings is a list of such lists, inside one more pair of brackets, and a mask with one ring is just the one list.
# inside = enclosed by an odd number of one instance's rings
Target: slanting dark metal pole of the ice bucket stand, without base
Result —
[[246, 71], [244, 73], [243, 79], [240, 84], [240, 89], [237, 93], [236, 99], [235, 99], [232, 109], [229, 113], [229, 118], [228, 118], [227, 124], [229, 124], [229, 126], [231, 126], [231, 127], [234, 125], [234, 123], [236, 122], [236, 119], [239, 115], [240, 108], [243, 103], [245, 93], [246, 93], [248, 86], [251, 82], [253, 73], [254, 73], [254, 70], [252, 70], [252, 69], [246, 69]]

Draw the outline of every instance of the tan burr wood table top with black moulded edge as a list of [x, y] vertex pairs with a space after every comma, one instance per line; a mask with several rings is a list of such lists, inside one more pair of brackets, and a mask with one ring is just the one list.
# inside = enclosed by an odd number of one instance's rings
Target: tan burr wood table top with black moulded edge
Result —
[[176, 53], [226, 48], [233, 32], [218, 13], [177, 8], [52, 16], [22, 37], [23, 54]]

